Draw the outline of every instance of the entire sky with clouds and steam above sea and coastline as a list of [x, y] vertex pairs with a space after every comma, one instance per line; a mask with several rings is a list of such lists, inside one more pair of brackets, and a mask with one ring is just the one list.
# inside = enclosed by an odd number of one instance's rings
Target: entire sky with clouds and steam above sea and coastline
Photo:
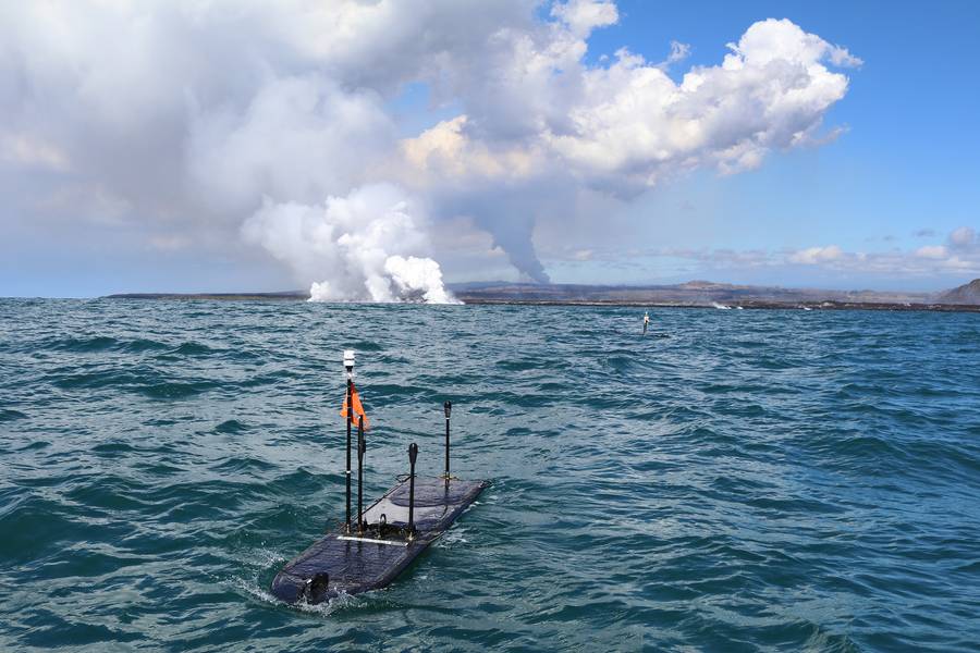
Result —
[[0, 5], [0, 296], [980, 278], [980, 4]]

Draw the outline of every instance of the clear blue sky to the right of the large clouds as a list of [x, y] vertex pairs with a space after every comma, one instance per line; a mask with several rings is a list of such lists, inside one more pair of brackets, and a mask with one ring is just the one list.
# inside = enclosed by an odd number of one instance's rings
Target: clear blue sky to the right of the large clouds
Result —
[[[980, 4], [940, 2], [620, 2], [620, 24], [596, 33], [591, 56], [622, 44], [651, 60], [673, 40], [690, 63], [710, 65], [724, 45], [761, 17], [788, 17], [846, 45], [863, 60], [847, 96], [826, 114], [846, 132], [825, 147], [777, 153], [757, 171], [697, 175], [651, 192], [642, 207], [669, 215], [649, 237], [666, 246], [733, 249], [838, 245], [847, 250], [916, 249], [953, 230], [980, 230]], [[698, 225], [672, 218], [685, 201]], [[642, 213], [639, 207], [632, 209]], [[683, 225], [676, 223], [683, 223]], [[933, 231], [934, 236], [916, 236]], [[670, 267], [666, 263], [664, 267]], [[955, 274], [894, 278], [813, 270], [730, 270], [724, 281], [835, 287], [934, 289]], [[587, 278], [587, 274], [580, 279]], [[684, 275], [674, 276], [682, 280]], [[645, 279], [638, 276], [637, 281]]]

